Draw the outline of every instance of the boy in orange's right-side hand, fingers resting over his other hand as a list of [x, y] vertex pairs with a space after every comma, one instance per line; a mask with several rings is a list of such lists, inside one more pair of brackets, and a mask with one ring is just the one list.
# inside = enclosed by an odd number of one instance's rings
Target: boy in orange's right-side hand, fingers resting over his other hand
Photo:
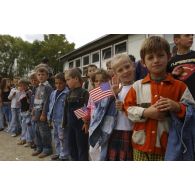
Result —
[[170, 112], [179, 112], [180, 104], [169, 98], [160, 97], [156, 104], [156, 108], [161, 112], [170, 111]]

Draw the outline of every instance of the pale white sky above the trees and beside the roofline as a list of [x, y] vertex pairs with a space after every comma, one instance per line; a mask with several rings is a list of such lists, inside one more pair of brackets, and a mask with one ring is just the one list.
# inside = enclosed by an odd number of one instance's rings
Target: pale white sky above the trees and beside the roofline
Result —
[[[43, 34], [20, 34], [20, 33], [10, 33], [11, 36], [17, 36], [17, 37], [21, 37], [23, 40], [25, 41], [29, 41], [29, 42], [33, 42], [34, 40], [43, 40]], [[72, 43], [75, 43], [75, 48], [81, 47], [83, 45], [85, 45], [88, 42], [91, 42], [105, 34], [103, 33], [89, 33], [89, 34], [85, 34], [83, 33], [82, 35], [80, 33], [68, 33], [65, 34], [67, 40]]]

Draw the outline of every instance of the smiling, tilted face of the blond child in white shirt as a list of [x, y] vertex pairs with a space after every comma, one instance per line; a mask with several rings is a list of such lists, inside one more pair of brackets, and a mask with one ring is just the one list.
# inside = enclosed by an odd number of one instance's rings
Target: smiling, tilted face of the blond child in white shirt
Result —
[[115, 69], [115, 74], [122, 84], [129, 84], [134, 80], [134, 64], [121, 62]]

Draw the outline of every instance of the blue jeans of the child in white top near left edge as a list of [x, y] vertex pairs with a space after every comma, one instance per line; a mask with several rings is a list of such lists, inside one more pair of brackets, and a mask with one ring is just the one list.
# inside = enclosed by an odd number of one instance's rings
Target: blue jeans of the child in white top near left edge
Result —
[[21, 133], [21, 117], [20, 108], [11, 108], [12, 118], [10, 123], [10, 132], [19, 134]]

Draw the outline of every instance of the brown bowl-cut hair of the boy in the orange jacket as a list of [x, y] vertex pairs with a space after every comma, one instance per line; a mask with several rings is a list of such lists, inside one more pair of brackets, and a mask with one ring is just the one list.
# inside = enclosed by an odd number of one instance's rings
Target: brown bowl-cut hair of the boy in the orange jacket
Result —
[[146, 54], [157, 53], [164, 50], [167, 55], [170, 55], [170, 45], [166, 39], [159, 36], [152, 36], [143, 42], [140, 50], [141, 59], [144, 60]]

